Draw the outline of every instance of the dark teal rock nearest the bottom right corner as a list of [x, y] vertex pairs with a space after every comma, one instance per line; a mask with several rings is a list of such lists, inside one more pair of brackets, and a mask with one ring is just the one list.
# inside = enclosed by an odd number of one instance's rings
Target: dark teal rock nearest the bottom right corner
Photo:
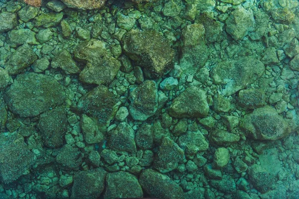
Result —
[[248, 168], [249, 180], [261, 193], [269, 191], [276, 179], [273, 175], [266, 172], [261, 166], [254, 164]]

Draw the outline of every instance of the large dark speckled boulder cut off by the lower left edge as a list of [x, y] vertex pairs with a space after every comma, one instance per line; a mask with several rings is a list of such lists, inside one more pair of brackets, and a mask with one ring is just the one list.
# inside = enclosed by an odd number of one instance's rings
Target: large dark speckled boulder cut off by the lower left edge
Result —
[[0, 180], [3, 184], [17, 180], [35, 161], [35, 155], [20, 134], [0, 133]]

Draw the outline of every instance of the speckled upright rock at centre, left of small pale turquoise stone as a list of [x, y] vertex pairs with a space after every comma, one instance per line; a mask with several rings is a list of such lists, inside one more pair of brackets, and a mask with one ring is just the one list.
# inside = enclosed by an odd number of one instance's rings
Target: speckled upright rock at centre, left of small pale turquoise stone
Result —
[[130, 92], [129, 112], [133, 119], [145, 121], [158, 109], [158, 90], [154, 81], [145, 81]]

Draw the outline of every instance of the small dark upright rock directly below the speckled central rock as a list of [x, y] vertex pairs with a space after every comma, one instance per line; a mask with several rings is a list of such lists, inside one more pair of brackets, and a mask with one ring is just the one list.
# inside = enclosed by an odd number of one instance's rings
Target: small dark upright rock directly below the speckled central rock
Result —
[[153, 147], [153, 132], [150, 124], [144, 123], [137, 129], [135, 141], [143, 150]]

